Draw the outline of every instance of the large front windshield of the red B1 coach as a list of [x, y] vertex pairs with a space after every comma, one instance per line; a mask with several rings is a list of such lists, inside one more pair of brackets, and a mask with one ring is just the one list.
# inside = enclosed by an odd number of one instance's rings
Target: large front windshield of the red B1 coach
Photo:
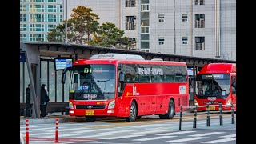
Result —
[[70, 91], [74, 100], [114, 99], [114, 65], [78, 65], [71, 68]]

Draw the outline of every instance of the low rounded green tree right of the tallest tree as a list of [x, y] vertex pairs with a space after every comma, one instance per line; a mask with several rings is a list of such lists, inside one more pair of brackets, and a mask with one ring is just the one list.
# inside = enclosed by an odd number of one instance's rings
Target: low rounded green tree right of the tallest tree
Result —
[[124, 34], [124, 30], [119, 30], [114, 23], [105, 22], [98, 27], [98, 32], [94, 33], [90, 45], [128, 49], [131, 43], [129, 38], [123, 37]]

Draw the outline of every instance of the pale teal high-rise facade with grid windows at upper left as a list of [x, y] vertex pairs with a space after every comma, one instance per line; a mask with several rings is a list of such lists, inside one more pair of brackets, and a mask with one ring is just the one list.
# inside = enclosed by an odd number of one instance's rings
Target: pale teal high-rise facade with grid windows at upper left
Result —
[[63, 0], [20, 0], [20, 41], [47, 41], [63, 16]]

